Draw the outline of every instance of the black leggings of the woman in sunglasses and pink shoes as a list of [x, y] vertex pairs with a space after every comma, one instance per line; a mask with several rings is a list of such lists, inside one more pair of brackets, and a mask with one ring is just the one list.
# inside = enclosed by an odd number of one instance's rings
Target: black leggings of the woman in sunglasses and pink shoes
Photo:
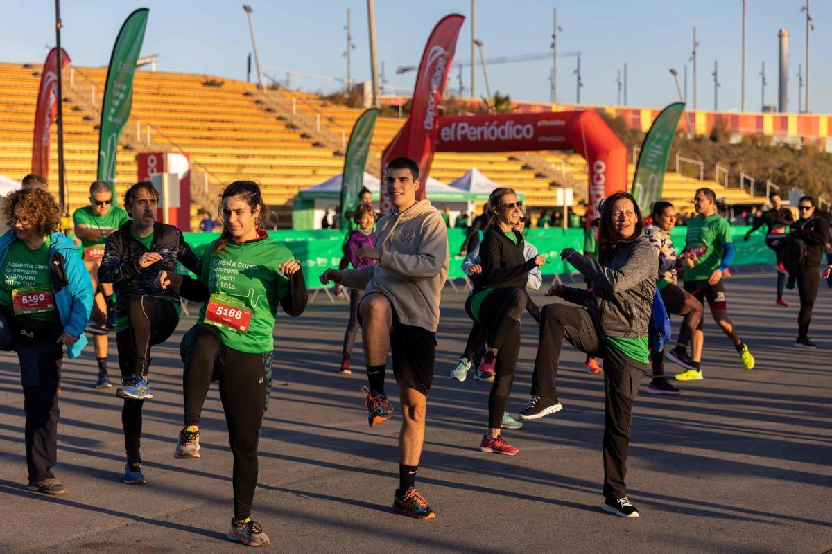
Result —
[[[503, 427], [503, 412], [512, 391], [514, 369], [520, 354], [520, 316], [527, 299], [525, 289], [498, 288], [488, 293], [479, 308], [479, 321], [488, 329], [488, 343], [498, 351], [494, 382], [488, 395], [489, 429]], [[471, 316], [470, 302], [465, 306]]]

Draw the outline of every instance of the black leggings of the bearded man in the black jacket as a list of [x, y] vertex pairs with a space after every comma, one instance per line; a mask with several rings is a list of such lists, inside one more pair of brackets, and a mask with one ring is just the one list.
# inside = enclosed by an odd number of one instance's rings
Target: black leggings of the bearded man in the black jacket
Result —
[[[127, 322], [127, 328], [116, 333], [122, 382], [133, 375], [147, 375], [151, 365], [151, 346], [171, 337], [179, 325], [179, 314], [170, 300], [141, 295], [127, 303]], [[141, 406], [144, 403], [144, 400], [126, 398], [121, 408], [124, 448], [131, 462], [141, 460]]]

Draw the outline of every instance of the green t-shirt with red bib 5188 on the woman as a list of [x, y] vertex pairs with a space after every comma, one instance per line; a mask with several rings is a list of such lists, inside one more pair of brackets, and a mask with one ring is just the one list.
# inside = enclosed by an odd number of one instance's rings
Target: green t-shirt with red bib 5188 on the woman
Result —
[[[216, 254], [214, 248], [215, 243], [208, 246], [202, 265], [201, 280], [211, 300], [202, 306], [199, 323], [217, 326], [222, 343], [235, 350], [251, 354], [274, 350], [275, 316], [280, 299], [289, 294], [289, 277], [280, 272], [279, 266], [295, 257], [289, 248], [271, 238], [253, 243], [232, 241]], [[230, 315], [240, 324], [247, 319], [246, 313], [250, 321], [245, 331], [217, 321]]]

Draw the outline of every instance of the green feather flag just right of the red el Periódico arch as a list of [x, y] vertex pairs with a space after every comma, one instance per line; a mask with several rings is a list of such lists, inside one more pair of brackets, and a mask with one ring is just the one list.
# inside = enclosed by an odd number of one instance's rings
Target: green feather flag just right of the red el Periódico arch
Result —
[[636, 174], [632, 179], [632, 195], [645, 216], [650, 213], [653, 203], [661, 199], [673, 136], [676, 135], [676, 125], [679, 125], [679, 117], [684, 111], [685, 105], [682, 102], [675, 102], [661, 110], [641, 145]]

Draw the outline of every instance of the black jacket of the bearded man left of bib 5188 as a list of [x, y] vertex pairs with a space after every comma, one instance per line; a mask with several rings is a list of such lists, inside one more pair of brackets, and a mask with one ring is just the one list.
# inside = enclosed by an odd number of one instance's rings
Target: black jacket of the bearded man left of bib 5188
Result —
[[[154, 223], [153, 243], [148, 250], [133, 237], [130, 232], [131, 224], [132, 222], [128, 221], [107, 238], [104, 257], [98, 267], [98, 281], [113, 283], [118, 316], [126, 316], [127, 302], [141, 295], [179, 302], [176, 292], [157, 288], [155, 283], [156, 276], [161, 271], [176, 273], [177, 262], [181, 262], [196, 275], [202, 272], [201, 258], [191, 250], [178, 228], [166, 223]], [[146, 252], [159, 252], [162, 260], [150, 267], [142, 268], [139, 258]]]

